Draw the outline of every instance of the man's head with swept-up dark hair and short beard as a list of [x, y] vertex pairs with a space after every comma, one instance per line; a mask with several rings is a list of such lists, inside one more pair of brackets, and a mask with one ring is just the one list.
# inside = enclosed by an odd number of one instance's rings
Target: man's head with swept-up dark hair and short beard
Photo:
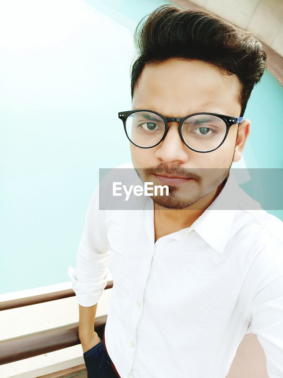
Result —
[[[198, 112], [243, 116], [266, 68], [265, 51], [254, 36], [208, 11], [174, 5], [158, 7], [143, 21], [134, 34], [138, 58], [131, 72], [133, 110], [176, 118]], [[132, 162], [141, 179], [154, 184], [161, 184], [154, 174], [194, 177], [170, 185], [169, 197], [152, 197], [165, 208], [192, 208], [215, 194], [232, 162], [240, 160], [250, 121], [232, 125], [223, 144], [208, 153], [183, 143], [179, 122], [168, 126], [165, 139], [155, 147], [131, 144]]]

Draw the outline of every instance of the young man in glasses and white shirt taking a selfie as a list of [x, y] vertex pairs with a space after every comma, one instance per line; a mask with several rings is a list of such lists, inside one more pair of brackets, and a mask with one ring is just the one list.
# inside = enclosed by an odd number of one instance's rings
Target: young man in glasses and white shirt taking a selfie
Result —
[[[137, 211], [100, 209], [98, 188], [91, 199], [77, 273], [69, 269], [88, 376], [225, 378], [252, 332], [269, 377], [283, 377], [283, 223], [240, 196], [216, 206], [239, 193], [229, 171], [250, 132], [243, 114], [265, 51], [210, 12], [172, 5], [140, 21], [135, 43], [132, 110], [118, 116], [138, 177], [169, 195]], [[109, 262], [101, 340], [94, 319]]]

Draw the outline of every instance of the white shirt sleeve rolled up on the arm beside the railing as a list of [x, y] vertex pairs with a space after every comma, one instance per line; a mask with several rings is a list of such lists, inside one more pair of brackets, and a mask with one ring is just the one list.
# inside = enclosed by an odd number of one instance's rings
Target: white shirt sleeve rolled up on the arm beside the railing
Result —
[[99, 186], [88, 206], [85, 228], [77, 250], [77, 270], [68, 268], [78, 304], [95, 305], [107, 284], [109, 247], [105, 210], [99, 209]]

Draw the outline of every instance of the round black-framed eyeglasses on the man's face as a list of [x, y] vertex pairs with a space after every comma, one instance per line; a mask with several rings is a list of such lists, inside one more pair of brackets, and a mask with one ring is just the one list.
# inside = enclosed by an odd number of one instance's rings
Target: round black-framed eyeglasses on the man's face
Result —
[[243, 117], [215, 113], [194, 113], [184, 118], [165, 117], [153, 110], [139, 109], [119, 112], [129, 141], [140, 148], [157, 146], [168, 132], [168, 122], [179, 122], [182, 141], [196, 152], [211, 152], [225, 141], [232, 125]]

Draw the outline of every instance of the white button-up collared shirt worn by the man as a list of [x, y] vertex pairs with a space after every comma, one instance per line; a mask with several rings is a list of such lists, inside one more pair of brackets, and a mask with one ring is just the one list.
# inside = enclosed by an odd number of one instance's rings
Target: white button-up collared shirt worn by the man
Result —
[[[235, 208], [215, 209], [231, 189]], [[105, 343], [121, 378], [225, 378], [245, 333], [257, 335], [269, 377], [283, 377], [283, 222], [231, 171], [191, 227], [156, 242], [151, 197], [141, 209], [99, 210], [98, 192], [68, 274], [78, 303], [92, 306], [110, 263]]]

